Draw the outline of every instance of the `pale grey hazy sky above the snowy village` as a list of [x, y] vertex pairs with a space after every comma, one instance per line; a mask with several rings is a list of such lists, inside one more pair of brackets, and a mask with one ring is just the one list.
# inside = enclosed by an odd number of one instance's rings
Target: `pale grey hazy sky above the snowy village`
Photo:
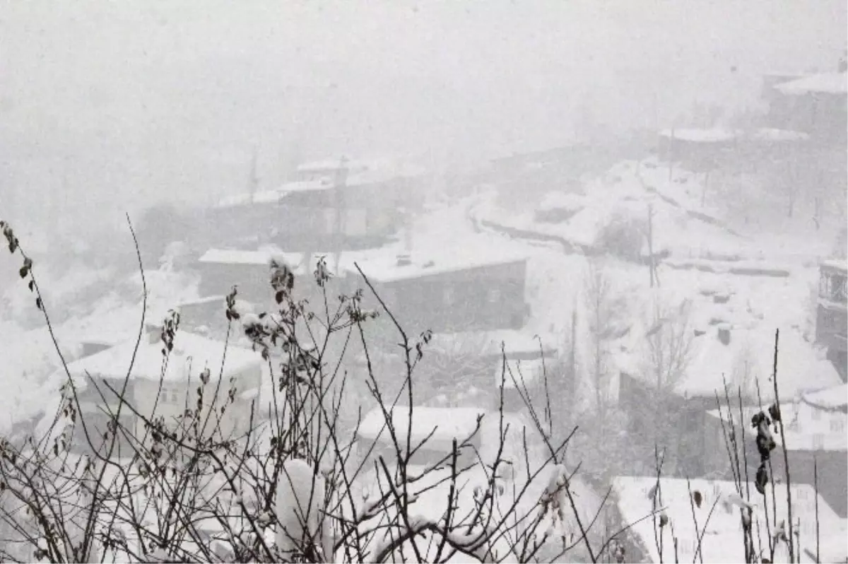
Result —
[[339, 152], [555, 145], [587, 111], [668, 125], [835, 67], [845, 29], [845, 0], [0, 0], [0, 198], [122, 221], [239, 190], [254, 148], [271, 186]]

